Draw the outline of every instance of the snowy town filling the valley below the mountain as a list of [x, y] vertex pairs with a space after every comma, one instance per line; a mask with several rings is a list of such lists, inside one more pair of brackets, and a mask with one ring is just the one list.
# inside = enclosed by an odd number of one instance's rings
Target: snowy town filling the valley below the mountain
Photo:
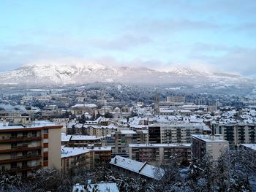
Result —
[[[39, 188], [45, 191], [56, 191], [60, 186], [63, 191], [166, 191], [167, 188], [185, 191], [187, 185], [192, 191], [208, 185], [219, 190], [229, 185], [234, 191], [255, 188], [252, 180], [256, 95], [163, 90], [118, 84], [110, 88], [85, 85], [1, 93], [0, 169], [1, 177], [10, 177], [9, 184], [1, 187], [6, 191], [14, 187], [18, 190], [21, 184], [16, 180], [32, 180], [31, 177], [44, 180], [48, 174], [57, 178], [59, 172], [61, 177], [72, 175], [79, 179], [65, 183], [68, 186], [64, 186], [63, 180], [59, 186], [45, 181]], [[242, 154], [244, 159], [238, 158]], [[227, 156], [233, 158], [228, 166], [236, 161], [236, 172], [223, 176], [223, 180], [219, 178], [221, 186], [209, 177], [213, 176], [210, 172], [217, 172], [212, 169], [224, 166], [222, 161], [227, 161]], [[250, 164], [248, 159], [252, 160]], [[205, 169], [209, 169], [207, 174]], [[102, 174], [109, 175], [103, 178]], [[202, 174], [208, 179], [203, 184], [198, 183], [206, 179], [201, 178]], [[232, 185], [230, 180], [235, 178], [236, 182], [243, 178], [242, 184]], [[196, 182], [182, 185], [181, 180]], [[133, 186], [136, 182], [137, 186]]]

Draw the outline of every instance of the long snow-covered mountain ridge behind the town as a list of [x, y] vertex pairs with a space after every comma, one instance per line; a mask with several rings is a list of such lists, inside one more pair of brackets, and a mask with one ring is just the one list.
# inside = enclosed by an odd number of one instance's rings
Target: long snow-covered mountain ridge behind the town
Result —
[[27, 64], [0, 73], [0, 85], [81, 85], [89, 82], [170, 83], [183, 85], [242, 86], [250, 80], [233, 74], [172, 69], [159, 72], [145, 67], [109, 66], [95, 63]]

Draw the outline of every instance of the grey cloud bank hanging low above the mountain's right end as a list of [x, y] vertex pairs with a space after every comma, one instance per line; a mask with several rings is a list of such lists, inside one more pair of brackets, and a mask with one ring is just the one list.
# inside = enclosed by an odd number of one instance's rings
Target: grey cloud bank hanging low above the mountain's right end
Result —
[[244, 76], [256, 75], [255, 47], [232, 47], [199, 43], [192, 48], [189, 60], [206, 63], [222, 72]]

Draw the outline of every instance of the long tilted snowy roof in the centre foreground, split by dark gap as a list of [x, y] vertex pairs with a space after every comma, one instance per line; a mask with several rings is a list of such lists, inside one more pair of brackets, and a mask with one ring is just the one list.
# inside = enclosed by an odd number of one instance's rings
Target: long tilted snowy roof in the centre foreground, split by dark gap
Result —
[[[116, 155], [115, 158], [112, 158], [110, 164], [155, 180], [160, 180], [162, 176], [165, 174], [165, 171], [161, 168], [157, 169], [156, 166], [148, 165], [146, 162], [142, 163], [129, 158], [121, 157], [119, 155]], [[158, 175], [161, 178], [159, 178]]]

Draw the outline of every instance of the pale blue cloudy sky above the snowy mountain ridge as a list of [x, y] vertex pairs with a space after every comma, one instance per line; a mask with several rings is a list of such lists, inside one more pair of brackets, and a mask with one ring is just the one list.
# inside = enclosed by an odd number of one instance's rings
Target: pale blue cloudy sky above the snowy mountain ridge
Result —
[[256, 77], [255, 0], [0, 0], [0, 72], [80, 58]]

